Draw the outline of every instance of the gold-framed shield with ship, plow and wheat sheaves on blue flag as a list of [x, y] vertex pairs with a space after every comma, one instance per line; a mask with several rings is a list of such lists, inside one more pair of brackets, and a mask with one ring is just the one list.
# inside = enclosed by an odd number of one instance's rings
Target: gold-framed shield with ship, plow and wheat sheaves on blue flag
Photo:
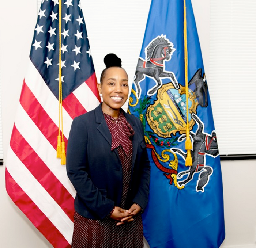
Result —
[[[193, 128], [195, 121], [191, 114], [196, 114], [198, 102], [193, 91], [188, 89], [188, 124], [189, 131]], [[180, 85], [179, 89], [174, 88], [172, 83], [164, 84], [157, 92], [157, 100], [153, 105], [148, 106], [146, 113], [148, 124], [158, 136], [167, 138], [186, 133], [187, 107], [186, 89]]]

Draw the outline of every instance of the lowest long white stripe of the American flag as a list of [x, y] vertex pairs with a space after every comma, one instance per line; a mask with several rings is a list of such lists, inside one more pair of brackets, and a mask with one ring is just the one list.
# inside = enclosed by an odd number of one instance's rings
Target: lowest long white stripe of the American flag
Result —
[[45, 216], [60, 231], [65, 239], [71, 244], [73, 222], [64, 213], [61, 207], [53, 200], [48, 192], [38, 183], [25, 165], [9, 147], [7, 153], [8, 172], [19, 184], [22, 190], [31, 198]]

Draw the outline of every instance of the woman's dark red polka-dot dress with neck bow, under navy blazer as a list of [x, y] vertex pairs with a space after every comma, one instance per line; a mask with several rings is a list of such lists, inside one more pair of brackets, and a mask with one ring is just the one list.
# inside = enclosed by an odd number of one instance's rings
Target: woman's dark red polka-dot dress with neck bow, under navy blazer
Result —
[[[132, 171], [132, 136], [134, 131], [127, 122], [123, 112], [118, 119], [103, 114], [112, 136], [111, 150], [117, 148], [123, 172], [123, 191], [121, 208], [125, 209], [129, 182]], [[113, 209], [114, 210], [114, 209]], [[112, 210], [112, 211], [113, 211]], [[108, 216], [112, 214], [109, 213]], [[143, 226], [138, 214], [127, 224], [117, 226], [116, 221], [91, 220], [74, 214], [73, 248], [143, 248]]]

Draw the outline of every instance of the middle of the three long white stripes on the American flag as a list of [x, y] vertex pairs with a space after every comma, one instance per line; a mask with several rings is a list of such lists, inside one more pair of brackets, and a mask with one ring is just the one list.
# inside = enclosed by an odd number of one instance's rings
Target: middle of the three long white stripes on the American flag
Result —
[[60, 159], [56, 158], [56, 150], [30, 119], [29, 115], [27, 115], [20, 104], [15, 118], [15, 126], [56, 178], [69, 191], [72, 197], [75, 198], [76, 191], [68, 179], [66, 166], [60, 164]]

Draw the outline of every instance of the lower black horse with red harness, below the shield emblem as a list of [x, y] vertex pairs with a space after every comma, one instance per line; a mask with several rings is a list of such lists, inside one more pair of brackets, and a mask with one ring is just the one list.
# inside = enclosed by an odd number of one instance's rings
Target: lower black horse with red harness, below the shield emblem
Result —
[[[215, 131], [212, 131], [211, 136], [204, 133], [203, 129], [203, 122], [197, 117], [197, 115], [192, 114], [191, 117], [197, 122], [198, 129], [196, 133], [190, 132], [190, 135], [193, 138], [193, 150], [191, 150], [192, 156], [192, 166], [189, 167], [187, 171], [182, 171], [178, 173], [177, 179], [181, 179], [183, 175], [188, 174], [187, 178], [183, 181], [178, 181], [180, 186], [187, 184], [190, 180], [193, 179], [194, 173], [200, 173], [199, 180], [197, 181], [196, 191], [204, 192], [204, 187], [207, 185], [210, 176], [212, 174], [212, 167], [206, 165], [206, 156], [210, 155], [212, 157], [216, 157], [219, 154], [218, 144], [216, 140]], [[186, 134], [182, 134], [178, 141], [182, 141], [186, 138]], [[176, 148], [171, 149], [173, 152], [180, 154], [184, 160], [186, 154]]]

